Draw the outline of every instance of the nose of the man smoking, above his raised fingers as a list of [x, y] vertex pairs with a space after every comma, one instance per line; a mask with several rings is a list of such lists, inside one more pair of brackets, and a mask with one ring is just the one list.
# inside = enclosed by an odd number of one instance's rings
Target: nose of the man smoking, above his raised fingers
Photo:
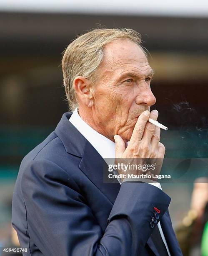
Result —
[[149, 85], [147, 84], [142, 88], [140, 87], [137, 94], [138, 95], [135, 101], [138, 105], [144, 104], [144, 105], [152, 106], [156, 102], [156, 98], [153, 95], [153, 92], [151, 91]]

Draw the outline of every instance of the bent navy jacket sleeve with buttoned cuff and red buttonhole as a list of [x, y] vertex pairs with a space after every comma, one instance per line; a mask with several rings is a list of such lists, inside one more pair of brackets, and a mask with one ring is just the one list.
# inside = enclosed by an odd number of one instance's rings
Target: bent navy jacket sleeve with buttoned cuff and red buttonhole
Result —
[[67, 172], [45, 159], [33, 160], [24, 172], [28, 233], [45, 256], [136, 256], [153, 231], [153, 207], [160, 209], [161, 218], [170, 203], [157, 187], [125, 182], [103, 234], [76, 187]]

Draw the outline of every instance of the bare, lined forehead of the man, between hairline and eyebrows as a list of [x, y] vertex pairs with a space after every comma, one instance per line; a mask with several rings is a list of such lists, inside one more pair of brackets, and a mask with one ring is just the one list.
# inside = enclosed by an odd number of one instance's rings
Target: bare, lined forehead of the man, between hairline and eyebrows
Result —
[[131, 67], [149, 67], [149, 63], [140, 46], [129, 39], [118, 39], [107, 44], [103, 49], [101, 66], [104, 72]]

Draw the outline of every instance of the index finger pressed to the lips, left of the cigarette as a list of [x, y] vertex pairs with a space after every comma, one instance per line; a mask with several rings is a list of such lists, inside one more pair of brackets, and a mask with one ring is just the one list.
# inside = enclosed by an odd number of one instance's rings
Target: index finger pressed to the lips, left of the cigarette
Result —
[[148, 110], [145, 110], [143, 113], [140, 114], [135, 124], [132, 136], [130, 138], [129, 145], [133, 145], [135, 142], [141, 140], [149, 115], [150, 112]]

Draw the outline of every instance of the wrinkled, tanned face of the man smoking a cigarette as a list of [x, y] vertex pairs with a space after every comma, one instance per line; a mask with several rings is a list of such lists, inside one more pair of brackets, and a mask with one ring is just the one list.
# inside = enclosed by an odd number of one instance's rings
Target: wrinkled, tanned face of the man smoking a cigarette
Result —
[[118, 39], [104, 49], [104, 58], [93, 87], [93, 118], [100, 133], [129, 141], [138, 116], [156, 102], [150, 89], [153, 75], [138, 45]]

